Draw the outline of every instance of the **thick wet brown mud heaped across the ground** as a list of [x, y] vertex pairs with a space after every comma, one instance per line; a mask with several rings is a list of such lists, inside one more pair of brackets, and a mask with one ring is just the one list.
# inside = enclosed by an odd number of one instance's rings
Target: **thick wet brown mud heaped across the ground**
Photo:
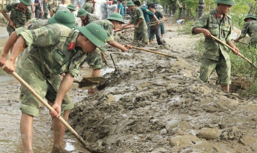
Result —
[[[203, 35], [178, 34], [177, 24], [166, 24], [166, 29], [165, 45], [133, 45], [178, 58], [112, 48], [106, 53], [108, 69], [102, 71], [106, 83], [98, 86], [97, 94], [89, 95], [77, 83], [72, 86], [76, 108], [70, 114], [70, 125], [92, 149], [103, 153], [256, 153], [257, 97], [224, 92], [216, 85], [215, 73], [209, 83], [198, 82], [200, 54], [194, 48]], [[117, 34], [115, 39], [126, 44], [131, 36]], [[91, 72], [81, 70], [78, 80]], [[248, 87], [247, 81], [237, 80], [232, 89]], [[1, 82], [1, 153], [22, 152], [18, 90], [16, 81]], [[35, 153], [50, 152], [50, 125], [44, 109], [34, 121]], [[69, 132], [64, 146], [72, 153], [85, 152]]]

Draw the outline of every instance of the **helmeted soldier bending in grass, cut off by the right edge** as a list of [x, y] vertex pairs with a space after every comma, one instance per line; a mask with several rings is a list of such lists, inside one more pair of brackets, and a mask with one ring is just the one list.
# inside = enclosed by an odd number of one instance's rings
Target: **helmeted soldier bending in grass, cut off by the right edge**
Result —
[[243, 19], [245, 21], [243, 25], [243, 29], [241, 31], [241, 35], [235, 39], [235, 42], [238, 42], [242, 38], [248, 34], [250, 36], [249, 44], [251, 46], [256, 46], [257, 44], [257, 21], [256, 17], [253, 14], [247, 14], [247, 16]]

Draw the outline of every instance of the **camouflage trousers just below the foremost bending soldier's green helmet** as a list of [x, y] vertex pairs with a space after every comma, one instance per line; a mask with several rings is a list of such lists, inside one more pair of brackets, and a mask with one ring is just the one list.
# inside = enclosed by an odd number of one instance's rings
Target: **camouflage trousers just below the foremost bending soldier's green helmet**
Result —
[[93, 70], [96, 69], [102, 69], [103, 63], [102, 63], [102, 56], [101, 51], [96, 48], [95, 52], [91, 52], [87, 55], [86, 59], [83, 61], [83, 63], [87, 63], [89, 66], [92, 66]]

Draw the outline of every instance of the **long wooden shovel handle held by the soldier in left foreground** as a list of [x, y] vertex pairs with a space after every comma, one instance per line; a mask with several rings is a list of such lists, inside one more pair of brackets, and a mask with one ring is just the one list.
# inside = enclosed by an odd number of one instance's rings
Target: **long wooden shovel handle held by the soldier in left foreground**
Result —
[[[13, 72], [12, 75], [22, 84], [24, 85], [31, 93], [32, 95], [34, 95], [43, 105], [45, 105], [49, 111], [54, 111], [54, 109], [42, 98], [40, 97], [35, 90], [28, 84], [26, 83], [16, 72]], [[84, 139], [82, 139], [82, 137], [80, 137], [80, 135], [64, 120], [63, 117], [57, 117], [57, 119], [64, 124], [64, 126], [80, 141], [80, 143], [84, 146], [84, 148], [89, 151], [90, 153], [94, 153], [94, 151], [92, 152], [91, 149], [88, 148], [88, 145], [86, 144], [86, 142], [84, 141]], [[97, 152], [96, 152], [97, 153]]]

